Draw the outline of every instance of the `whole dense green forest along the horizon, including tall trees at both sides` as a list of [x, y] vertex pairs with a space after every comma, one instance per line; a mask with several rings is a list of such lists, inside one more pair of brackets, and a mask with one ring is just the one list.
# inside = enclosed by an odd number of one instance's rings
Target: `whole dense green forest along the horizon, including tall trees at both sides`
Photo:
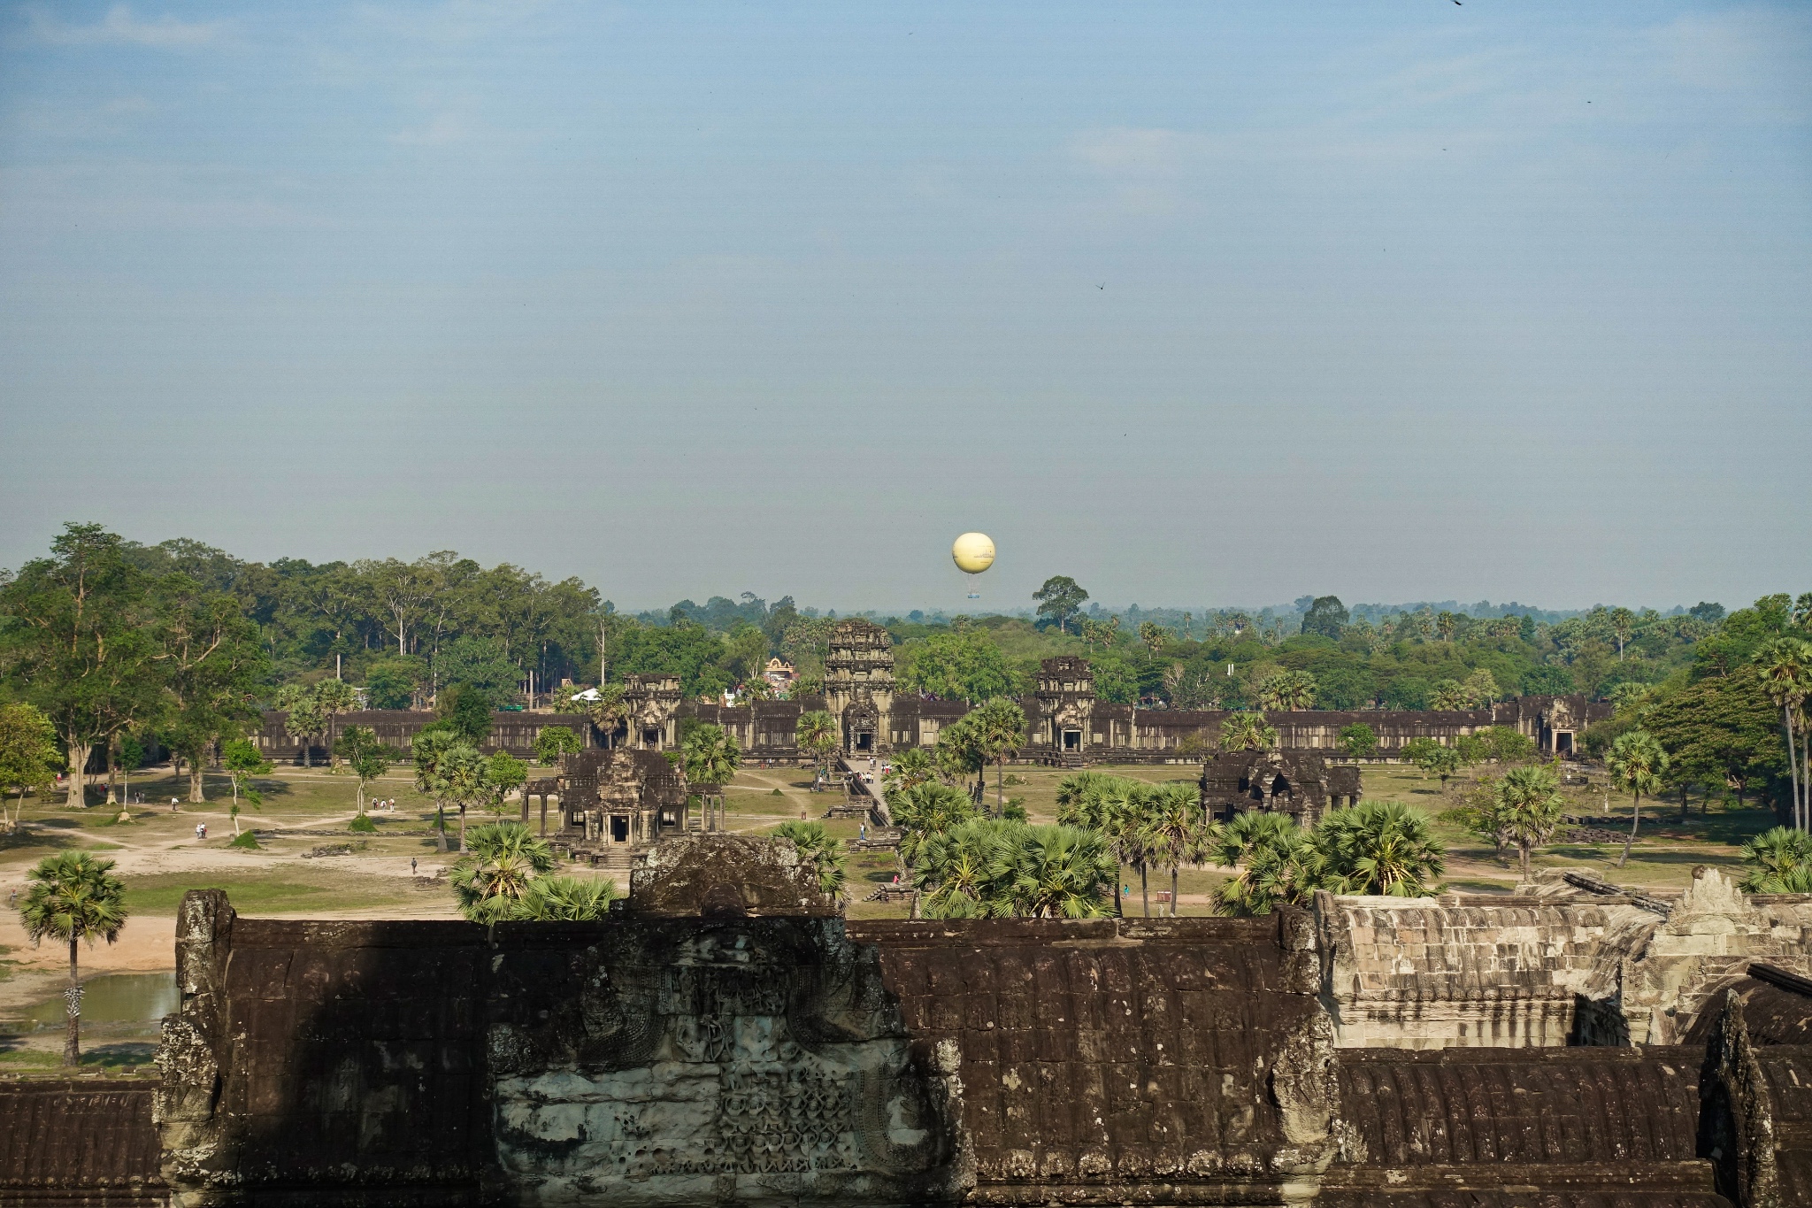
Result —
[[[901, 686], [931, 697], [1018, 695], [1038, 661], [1058, 654], [1091, 659], [1100, 697], [1147, 708], [1462, 708], [1584, 692], [1616, 705], [1589, 744], [1640, 726], [1687, 752], [1682, 768], [1718, 766], [1730, 784], [1785, 775], [1783, 717], [1803, 719], [1794, 676], [1807, 676], [1765, 672], [1756, 657], [1812, 634], [1812, 594], [1729, 616], [1701, 603], [1562, 619], [1355, 612], [1319, 596], [1287, 616], [1205, 610], [1163, 625], [1152, 619], [1163, 610], [1136, 619], [1131, 609], [1084, 609], [1087, 590], [1055, 576], [1035, 601], [1031, 618], [875, 619], [893, 638]], [[0, 578], [0, 694], [36, 705], [65, 750], [130, 733], [203, 750], [241, 733], [259, 708], [290, 706], [297, 690], [317, 705], [342, 701], [332, 710], [350, 706], [352, 690], [370, 706], [406, 708], [460, 685], [467, 701], [522, 708], [558, 706], [600, 677], [663, 672], [689, 695], [721, 699], [765, 695], [761, 670], [779, 656], [801, 672], [794, 690], [810, 694], [835, 619], [750, 592], [623, 616], [578, 580], [453, 552], [266, 565], [198, 542], [138, 545], [69, 525], [47, 558]]]

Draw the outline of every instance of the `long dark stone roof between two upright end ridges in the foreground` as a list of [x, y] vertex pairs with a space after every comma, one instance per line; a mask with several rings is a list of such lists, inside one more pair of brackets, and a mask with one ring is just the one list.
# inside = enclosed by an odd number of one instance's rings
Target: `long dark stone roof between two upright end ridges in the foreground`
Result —
[[159, 1121], [185, 1204], [1281, 1203], [1332, 1157], [1297, 911], [487, 933], [214, 891], [181, 944]]

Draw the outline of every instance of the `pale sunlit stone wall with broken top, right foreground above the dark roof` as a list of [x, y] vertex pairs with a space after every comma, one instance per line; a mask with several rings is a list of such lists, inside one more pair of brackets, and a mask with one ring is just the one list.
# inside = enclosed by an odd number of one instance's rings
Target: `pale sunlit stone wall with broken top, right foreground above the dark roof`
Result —
[[1712, 868], [1616, 893], [1316, 896], [1343, 1049], [1680, 1043], [1754, 962], [1812, 974], [1812, 896], [1750, 896]]

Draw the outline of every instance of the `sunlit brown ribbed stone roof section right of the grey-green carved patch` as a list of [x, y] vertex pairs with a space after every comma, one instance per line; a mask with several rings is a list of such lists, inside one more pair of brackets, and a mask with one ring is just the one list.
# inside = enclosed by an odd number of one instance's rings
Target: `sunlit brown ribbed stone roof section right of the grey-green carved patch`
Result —
[[973, 1203], [1306, 1195], [1334, 1043], [1301, 911], [852, 924], [919, 1045], [953, 1047]]

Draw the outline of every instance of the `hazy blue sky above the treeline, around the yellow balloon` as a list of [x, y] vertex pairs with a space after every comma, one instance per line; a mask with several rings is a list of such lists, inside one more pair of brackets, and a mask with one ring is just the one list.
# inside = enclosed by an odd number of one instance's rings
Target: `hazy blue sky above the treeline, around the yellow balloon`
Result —
[[0, 565], [1812, 587], [1812, 5], [0, 13]]

